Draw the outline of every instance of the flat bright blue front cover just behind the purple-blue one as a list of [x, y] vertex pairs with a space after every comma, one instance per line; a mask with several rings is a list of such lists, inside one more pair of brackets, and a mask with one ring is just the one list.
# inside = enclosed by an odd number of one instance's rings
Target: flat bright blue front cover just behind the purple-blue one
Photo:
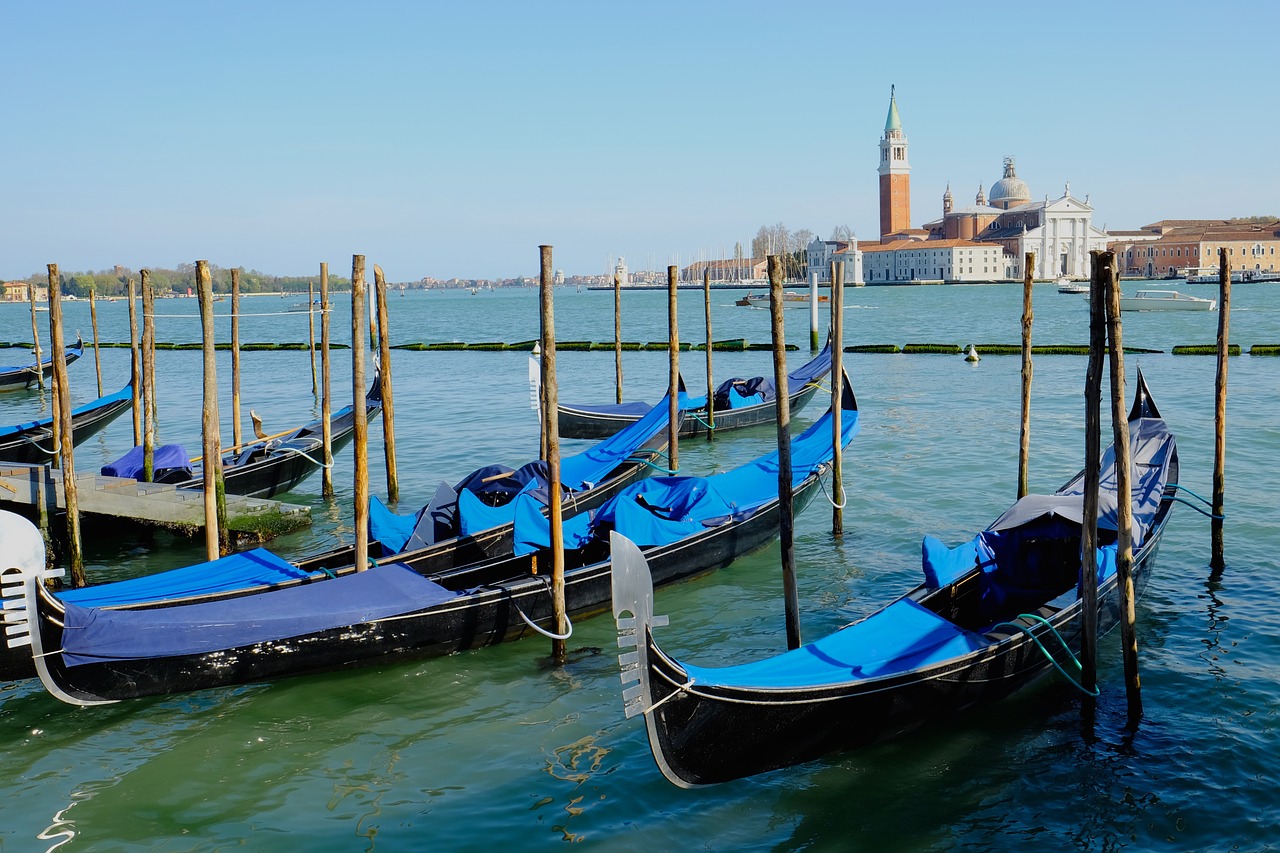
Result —
[[307, 573], [266, 548], [253, 548], [212, 562], [197, 562], [193, 566], [182, 566], [143, 578], [64, 589], [58, 593], [58, 598], [82, 607], [119, 607], [229, 589], [269, 587], [306, 576]]

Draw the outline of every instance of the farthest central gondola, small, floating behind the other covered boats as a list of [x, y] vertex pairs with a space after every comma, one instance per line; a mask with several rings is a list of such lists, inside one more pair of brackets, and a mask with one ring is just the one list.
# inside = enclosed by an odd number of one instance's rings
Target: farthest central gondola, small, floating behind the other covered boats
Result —
[[[787, 393], [791, 412], [804, 409], [818, 392], [818, 383], [831, 371], [831, 341], [817, 356], [787, 374]], [[777, 406], [773, 402], [773, 379], [726, 379], [713, 396], [716, 432], [759, 426], [776, 423]], [[709, 426], [707, 394], [690, 397], [681, 382], [680, 407], [686, 412], [680, 428], [681, 438], [705, 434]], [[559, 430], [564, 438], [602, 438], [612, 435], [622, 426], [643, 416], [650, 409], [645, 402], [605, 403], [599, 406], [559, 406]]]

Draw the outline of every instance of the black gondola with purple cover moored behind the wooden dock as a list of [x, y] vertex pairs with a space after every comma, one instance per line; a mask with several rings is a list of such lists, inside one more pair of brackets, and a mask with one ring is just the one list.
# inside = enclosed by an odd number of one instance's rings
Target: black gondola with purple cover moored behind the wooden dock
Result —
[[[365, 418], [378, 416], [383, 409], [381, 378], [374, 377], [365, 394]], [[223, 453], [223, 482], [228, 494], [269, 498], [297, 487], [324, 465], [324, 421], [316, 419], [296, 429], [233, 447]], [[334, 453], [346, 447], [355, 433], [352, 407], [333, 412], [329, 419], [330, 447]], [[104, 465], [104, 476], [142, 478], [142, 448]], [[204, 467], [189, 460], [180, 444], [155, 448], [152, 482], [170, 483], [183, 489], [205, 488]]]

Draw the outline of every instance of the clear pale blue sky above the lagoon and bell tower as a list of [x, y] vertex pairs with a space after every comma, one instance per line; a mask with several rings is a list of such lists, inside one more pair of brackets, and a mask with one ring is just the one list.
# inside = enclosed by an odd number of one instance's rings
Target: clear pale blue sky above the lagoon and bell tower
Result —
[[1000, 178], [1096, 224], [1280, 214], [1280, 4], [5, 3], [0, 278], [221, 266], [392, 280], [878, 237]]

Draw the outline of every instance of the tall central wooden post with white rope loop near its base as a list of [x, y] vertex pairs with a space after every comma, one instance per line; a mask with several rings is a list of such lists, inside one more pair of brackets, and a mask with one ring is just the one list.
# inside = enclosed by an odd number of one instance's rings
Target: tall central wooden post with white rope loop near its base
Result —
[[556, 310], [552, 288], [552, 247], [539, 246], [541, 272], [539, 296], [543, 327], [543, 425], [547, 435], [547, 496], [552, 528], [552, 619], [556, 622], [552, 638], [552, 658], [563, 663], [567, 656], [564, 634], [568, 620], [564, 613], [564, 530], [559, 482], [559, 391], [556, 386]]

